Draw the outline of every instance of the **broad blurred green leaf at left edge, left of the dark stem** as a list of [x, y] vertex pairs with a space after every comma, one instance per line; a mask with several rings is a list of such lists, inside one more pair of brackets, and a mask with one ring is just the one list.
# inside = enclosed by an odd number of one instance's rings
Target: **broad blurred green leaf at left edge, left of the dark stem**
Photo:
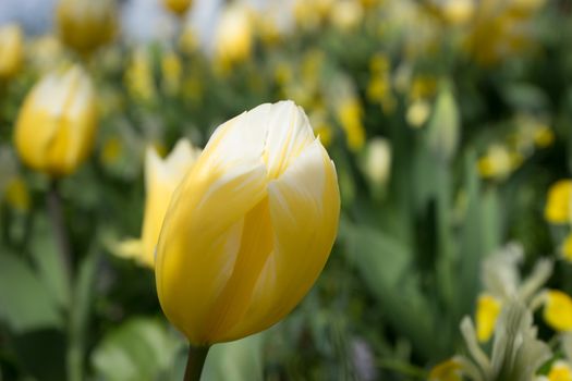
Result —
[[14, 333], [60, 328], [62, 315], [38, 274], [23, 259], [0, 255], [0, 320]]

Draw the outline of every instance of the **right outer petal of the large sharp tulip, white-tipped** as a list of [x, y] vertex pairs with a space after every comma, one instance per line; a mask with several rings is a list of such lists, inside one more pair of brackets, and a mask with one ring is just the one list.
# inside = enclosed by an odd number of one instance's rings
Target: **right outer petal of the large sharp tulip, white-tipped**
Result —
[[315, 140], [268, 185], [275, 250], [253, 292], [247, 319], [223, 340], [264, 330], [289, 314], [326, 265], [336, 238], [340, 198], [333, 163]]

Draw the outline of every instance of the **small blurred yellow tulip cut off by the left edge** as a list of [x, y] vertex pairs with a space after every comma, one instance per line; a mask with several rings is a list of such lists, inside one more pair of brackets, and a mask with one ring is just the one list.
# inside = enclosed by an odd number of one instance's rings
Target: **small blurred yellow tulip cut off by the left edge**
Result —
[[0, 28], [0, 78], [14, 76], [22, 67], [23, 41], [22, 29], [16, 24]]

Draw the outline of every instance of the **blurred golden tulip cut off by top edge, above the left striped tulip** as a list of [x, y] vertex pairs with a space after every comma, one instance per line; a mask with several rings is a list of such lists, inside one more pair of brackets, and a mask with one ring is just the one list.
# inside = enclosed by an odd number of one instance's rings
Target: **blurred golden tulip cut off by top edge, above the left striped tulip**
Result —
[[85, 54], [109, 42], [115, 34], [114, 0], [60, 0], [58, 32], [62, 41]]

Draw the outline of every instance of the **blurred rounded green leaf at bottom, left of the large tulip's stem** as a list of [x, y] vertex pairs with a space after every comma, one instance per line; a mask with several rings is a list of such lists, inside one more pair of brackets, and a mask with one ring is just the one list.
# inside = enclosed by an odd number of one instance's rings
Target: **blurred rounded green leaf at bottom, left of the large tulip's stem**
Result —
[[92, 365], [104, 380], [170, 379], [182, 343], [160, 321], [134, 318], [101, 340], [92, 354]]

